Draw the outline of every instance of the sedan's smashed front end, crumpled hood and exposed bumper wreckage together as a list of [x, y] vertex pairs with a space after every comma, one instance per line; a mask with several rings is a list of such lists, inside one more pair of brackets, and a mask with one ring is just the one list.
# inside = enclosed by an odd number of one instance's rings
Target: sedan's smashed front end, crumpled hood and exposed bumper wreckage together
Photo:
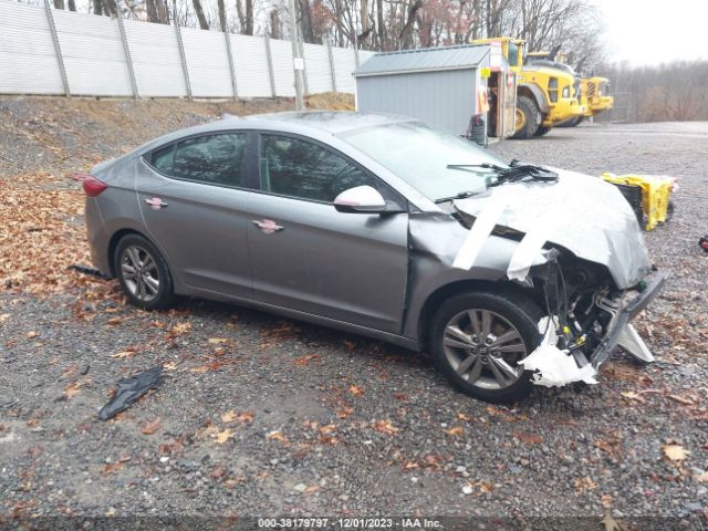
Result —
[[533, 293], [545, 316], [540, 344], [519, 362], [533, 383], [596, 383], [620, 345], [654, 357], [631, 321], [658, 294], [666, 275], [652, 268], [632, 209], [600, 179], [559, 171], [556, 183], [504, 185], [454, 201], [469, 230], [454, 267], [473, 270], [489, 238], [517, 241], [506, 277]]

